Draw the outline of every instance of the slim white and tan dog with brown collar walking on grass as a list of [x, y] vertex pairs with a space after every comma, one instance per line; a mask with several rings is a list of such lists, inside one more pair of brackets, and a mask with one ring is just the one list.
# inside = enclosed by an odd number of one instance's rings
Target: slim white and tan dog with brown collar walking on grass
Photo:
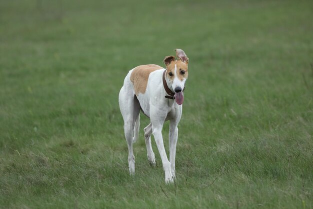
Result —
[[[150, 136], [153, 134], [159, 151], [165, 182], [175, 178], [175, 154], [178, 137], [177, 125], [181, 118], [183, 90], [188, 77], [188, 57], [181, 49], [175, 49], [176, 57], [167, 56], [158, 65], [140, 65], [131, 69], [124, 79], [118, 95], [120, 112], [124, 121], [124, 133], [128, 146], [128, 168], [135, 172], [135, 159], [132, 144], [138, 138], [140, 110], [150, 119], [144, 128], [147, 158], [155, 166], [155, 156], [151, 147]], [[162, 127], [169, 120], [169, 161], [164, 149]]]

